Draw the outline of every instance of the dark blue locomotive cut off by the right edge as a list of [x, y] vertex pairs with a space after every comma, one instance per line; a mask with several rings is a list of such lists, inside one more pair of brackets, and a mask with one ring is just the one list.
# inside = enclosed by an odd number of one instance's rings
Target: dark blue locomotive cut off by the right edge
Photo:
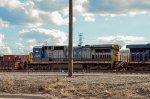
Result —
[[127, 45], [126, 48], [130, 49], [128, 70], [150, 70], [150, 44]]

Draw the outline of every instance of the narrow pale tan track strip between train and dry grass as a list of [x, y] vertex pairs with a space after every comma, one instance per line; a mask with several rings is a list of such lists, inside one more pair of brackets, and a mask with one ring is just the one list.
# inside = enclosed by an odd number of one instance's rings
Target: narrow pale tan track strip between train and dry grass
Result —
[[[67, 77], [68, 74], [67, 73], [35, 73], [35, 72], [30, 72], [30, 73], [22, 73], [22, 72], [13, 72], [13, 73], [0, 73], [0, 77], [21, 77], [21, 78], [24, 78], [24, 77]], [[139, 77], [147, 77], [147, 76], [150, 76], [149, 74], [141, 74], [141, 73], [138, 73], [138, 74], [128, 74], [128, 73], [125, 73], [125, 74], [116, 74], [116, 73], [73, 73], [73, 78], [74, 77], [78, 77], [78, 76], [99, 76], [99, 77], [105, 77], [105, 76], [110, 76], [110, 77], [115, 77], [115, 76], [118, 76], [118, 77], [122, 77], [122, 76], [126, 76], [126, 77], [136, 77], [136, 76], [139, 76]]]

